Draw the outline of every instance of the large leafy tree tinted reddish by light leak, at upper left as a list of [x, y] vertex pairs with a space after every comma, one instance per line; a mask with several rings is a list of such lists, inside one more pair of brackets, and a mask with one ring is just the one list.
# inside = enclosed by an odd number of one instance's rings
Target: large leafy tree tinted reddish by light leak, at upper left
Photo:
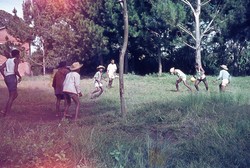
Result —
[[101, 0], [25, 1], [24, 18], [41, 39], [44, 67], [54, 68], [61, 60], [82, 61], [85, 66], [101, 62], [107, 44], [99, 26], [102, 7]]

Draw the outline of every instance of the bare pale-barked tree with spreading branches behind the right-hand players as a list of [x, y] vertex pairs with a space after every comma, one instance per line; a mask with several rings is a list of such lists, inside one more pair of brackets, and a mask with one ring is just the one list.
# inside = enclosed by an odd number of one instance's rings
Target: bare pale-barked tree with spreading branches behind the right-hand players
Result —
[[[202, 39], [208, 36], [211, 30], [213, 30], [212, 24], [219, 13], [219, 3], [211, 7], [208, 5], [210, 1], [211, 0], [165, 0], [156, 5], [156, 9], [160, 11], [159, 14], [165, 18], [168, 24], [178, 27], [191, 37], [188, 41], [183, 40], [183, 43], [195, 50], [195, 61], [199, 65], [201, 65]], [[185, 4], [191, 12], [188, 11], [181, 2]], [[168, 5], [166, 6], [164, 4]], [[166, 6], [166, 8], [160, 7], [161, 5]], [[206, 8], [206, 6], [207, 9], [205, 10], [204, 8]], [[203, 9], [207, 15], [201, 15]]]

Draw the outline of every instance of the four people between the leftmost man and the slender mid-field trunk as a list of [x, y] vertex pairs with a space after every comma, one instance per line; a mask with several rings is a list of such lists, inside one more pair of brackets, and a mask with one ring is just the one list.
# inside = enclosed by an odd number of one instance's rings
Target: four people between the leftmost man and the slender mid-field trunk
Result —
[[[56, 101], [56, 113], [57, 116], [61, 116], [60, 114], [60, 102], [61, 100], [64, 101], [64, 112], [63, 117], [71, 117], [69, 115], [68, 110], [71, 105], [71, 99], [76, 104], [75, 110], [75, 119], [78, 117], [79, 107], [80, 107], [80, 100], [79, 97], [82, 96], [81, 89], [80, 89], [80, 68], [83, 65], [79, 62], [73, 63], [69, 68], [66, 66], [66, 62], [59, 63], [59, 67], [57, 72], [53, 77], [52, 86], [55, 91], [55, 96], [57, 98]], [[99, 65], [97, 67], [97, 72], [94, 75], [94, 86], [95, 90], [91, 92], [91, 99], [99, 97], [103, 93], [103, 70], [105, 67], [103, 65]], [[115, 61], [112, 59], [111, 63], [108, 65], [107, 74], [109, 76], [109, 83], [108, 87], [112, 87], [113, 80], [115, 78], [115, 73], [117, 70], [117, 66]]]

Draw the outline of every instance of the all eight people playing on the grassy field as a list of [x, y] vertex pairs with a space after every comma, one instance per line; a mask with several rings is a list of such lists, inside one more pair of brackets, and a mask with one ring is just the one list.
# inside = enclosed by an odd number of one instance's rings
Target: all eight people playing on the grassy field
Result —
[[[5, 63], [0, 66], [0, 72], [4, 77], [4, 81], [7, 85], [9, 98], [6, 103], [5, 109], [1, 110], [3, 116], [10, 112], [13, 101], [17, 98], [17, 83], [21, 82], [22, 77], [18, 72], [18, 64], [20, 62], [20, 51], [17, 49], [13, 49], [11, 51], [10, 58], [7, 59]], [[69, 115], [68, 110], [71, 105], [71, 100], [76, 104], [75, 116], [77, 119], [79, 108], [80, 108], [80, 100], [79, 97], [82, 96], [81, 88], [80, 88], [80, 68], [83, 65], [79, 62], [74, 62], [71, 66], [67, 67], [66, 62], [60, 62], [58, 66], [58, 70], [53, 77], [52, 86], [54, 88], [55, 96], [57, 98], [56, 101], [56, 114], [61, 116], [60, 113], [60, 103], [61, 100], [64, 101], [64, 112], [63, 117], [71, 117]], [[97, 67], [97, 72], [94, 75], [94, 86], [95, 90], [91, 92], [91, 99], [99, 97], [103, 93], [103, 84], [102, 84], [102, 75], [104, 66], [99, 65]], [[199, 65], [195, 64], [196, 75], [194, 76], [194, 86], [197, 91], [199, 91], [199, 83], [203, 82], [205, 84], [206, 90], [208, 90], [208, 83], [205, 75], [204, 69]], [[109, 77], [108, 87], [112, 87], [113, 80], [116, 77], [117, 66], [115, 61], [112, 59], [111, 63], [108, 65], [107, 74]], [[170, 69], [170, 73], [177, 75], [176, 80], [176, 90], [179, 91], [179, 83], [183, 82], [184, 85], [192, 91], [191, 87], [187, 84], [187, 76], [180, 69], [175, 69], [174, 67]], [[18, 77], [18, 78], [17, 78]], [[221, 65], [221, 71], [216, 80], [221, 80], [219, 85], [220, 91], [225, 91], [226, 86], [230, 83], [230, 74], [228, 73], [228, 68], [226, 65]]]

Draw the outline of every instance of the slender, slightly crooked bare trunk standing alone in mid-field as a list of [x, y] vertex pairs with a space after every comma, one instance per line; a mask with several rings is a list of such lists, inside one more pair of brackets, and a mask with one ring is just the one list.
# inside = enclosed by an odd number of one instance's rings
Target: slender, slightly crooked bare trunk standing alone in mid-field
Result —
[[119, 60], [119, 85], [120, 85], [120, 103], [121, 103], [121, 114], [122, 117], [126, 117], [126, 106], [125, 106], [125, 98], [124, 98], [124, 57], [127, 50], [128, 45], [128, 11], [127, 11], [127, 2], [123, 0], [123, 19], [124, 19], [124, 39], [123, 39], [123, 46], [120, 53], [120, 60]]

